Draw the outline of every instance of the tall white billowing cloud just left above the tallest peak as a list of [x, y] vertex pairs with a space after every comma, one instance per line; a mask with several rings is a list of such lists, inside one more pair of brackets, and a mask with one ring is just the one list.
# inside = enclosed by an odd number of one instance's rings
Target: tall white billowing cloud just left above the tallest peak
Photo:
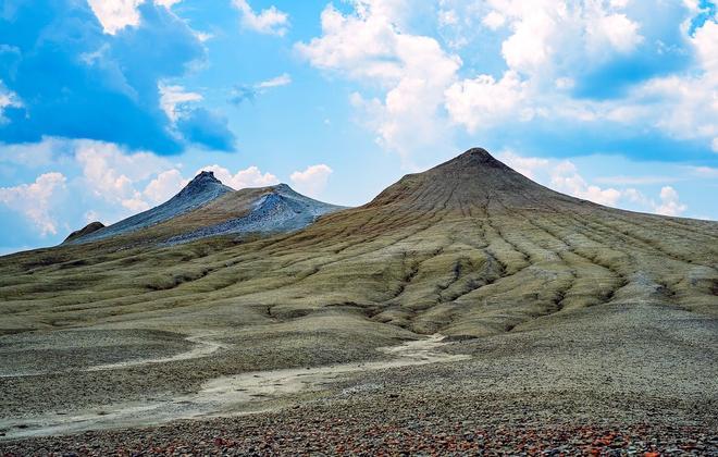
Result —
[[352, 5], [348, 14], [326, 7], [322, 36], [298, 44], [297, 51], [315, 67], [385, 92], [372, 98], [355, 92], [350, 100], [387, 149], [407, 158], [426, 147], [446, 147], [447, 123], [440, 111], [460, 59], [434, 38], [400, 29], [404, 2], [357, 0]]

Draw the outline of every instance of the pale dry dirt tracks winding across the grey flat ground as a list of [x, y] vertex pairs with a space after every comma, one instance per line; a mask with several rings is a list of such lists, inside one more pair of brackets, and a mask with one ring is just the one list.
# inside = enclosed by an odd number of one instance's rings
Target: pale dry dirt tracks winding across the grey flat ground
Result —
[[[393, 358], [363, 363], [342, 363], [307, 369], [256, 371], [233, 376], [218, 378], [202, 385], [190, 395], [157, 403], [114, 404], [70, 415], [48, 413], [20, 420], [0, 419], [2, 439], [62, 435], [87, 430], [119, 429], [156, 425], [177, 419], [247, 415], [278, 409], [292, 400], [292, 395], [326, 390], [326, 385], [344, 376], [363, 371], [395, 369], [426, 363], [451, 362], [468, 359], [467, 355], [450, 355], [440, 350], [442, 335], [411, 341], [399, 346], [380, 348]], [[199, 341], [196, 341], [199, 343]], [[214, 351], [220, 344], [201, 341], [203, 346], [194, 349], [196, 357]], [[216, 346], [216, 347], [215, 347]], [[187, 359], [193, 351], [183, 353], [166, 360]], [[211, 353], [210, 353], [211, 354]], [[122, 368], [139, 363], [158, 362], [158, 359], [138, 360], [124, 365], [104, 366]], [[95, 369], [99, 369], [96, 367]]]

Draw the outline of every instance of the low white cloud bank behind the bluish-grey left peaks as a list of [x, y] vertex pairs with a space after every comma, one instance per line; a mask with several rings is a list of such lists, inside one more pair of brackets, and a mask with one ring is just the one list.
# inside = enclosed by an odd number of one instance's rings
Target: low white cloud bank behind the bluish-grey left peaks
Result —
[[[0, 228], [17, 246], [33, 239], [38, 243], [40, 236], [57, 239], [52, 236], [91, 221], [114, 223], [166, 201], [194, 177], [183, 173], [181, 163], [104, 141], [46, 138], [37, 144], [0, 145], [0, 164], [21, 168], [24, 174], [33, 169], [62, 171], [38, 173], [34, 182], [0, 187], [4, 218]], [[278, 184], [275, 175], [257, 166], [235, 173], [220, 165], [202, 170], [214, 171], [234, 188]], [[13, 213], [22, 217], [10, 219]], [[37, 235], [26, 228], [28, 223]]]

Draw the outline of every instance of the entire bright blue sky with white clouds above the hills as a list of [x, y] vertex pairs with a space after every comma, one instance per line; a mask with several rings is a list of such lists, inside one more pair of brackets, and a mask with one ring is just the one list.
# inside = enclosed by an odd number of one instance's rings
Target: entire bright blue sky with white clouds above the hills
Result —
[[0, 255], [200, 170], [358, 206], [471, 147], [565, 194], [718, 220], [716, 4], [0, 4]]

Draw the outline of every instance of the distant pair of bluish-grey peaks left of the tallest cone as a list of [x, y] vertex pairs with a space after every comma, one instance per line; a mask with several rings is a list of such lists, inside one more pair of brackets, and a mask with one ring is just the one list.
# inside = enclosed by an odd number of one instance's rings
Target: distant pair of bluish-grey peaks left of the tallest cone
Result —
[[[109, 227], [92, 225], [65, 243], [110, 247], [171, 246], [209, 236], [268, 236], [304, 228], [343, 207], [296, 193], [286, 184], [234, 190], [201, 172], [169, 201]], [[76, 235], [75, 235], [76, 234]]]

